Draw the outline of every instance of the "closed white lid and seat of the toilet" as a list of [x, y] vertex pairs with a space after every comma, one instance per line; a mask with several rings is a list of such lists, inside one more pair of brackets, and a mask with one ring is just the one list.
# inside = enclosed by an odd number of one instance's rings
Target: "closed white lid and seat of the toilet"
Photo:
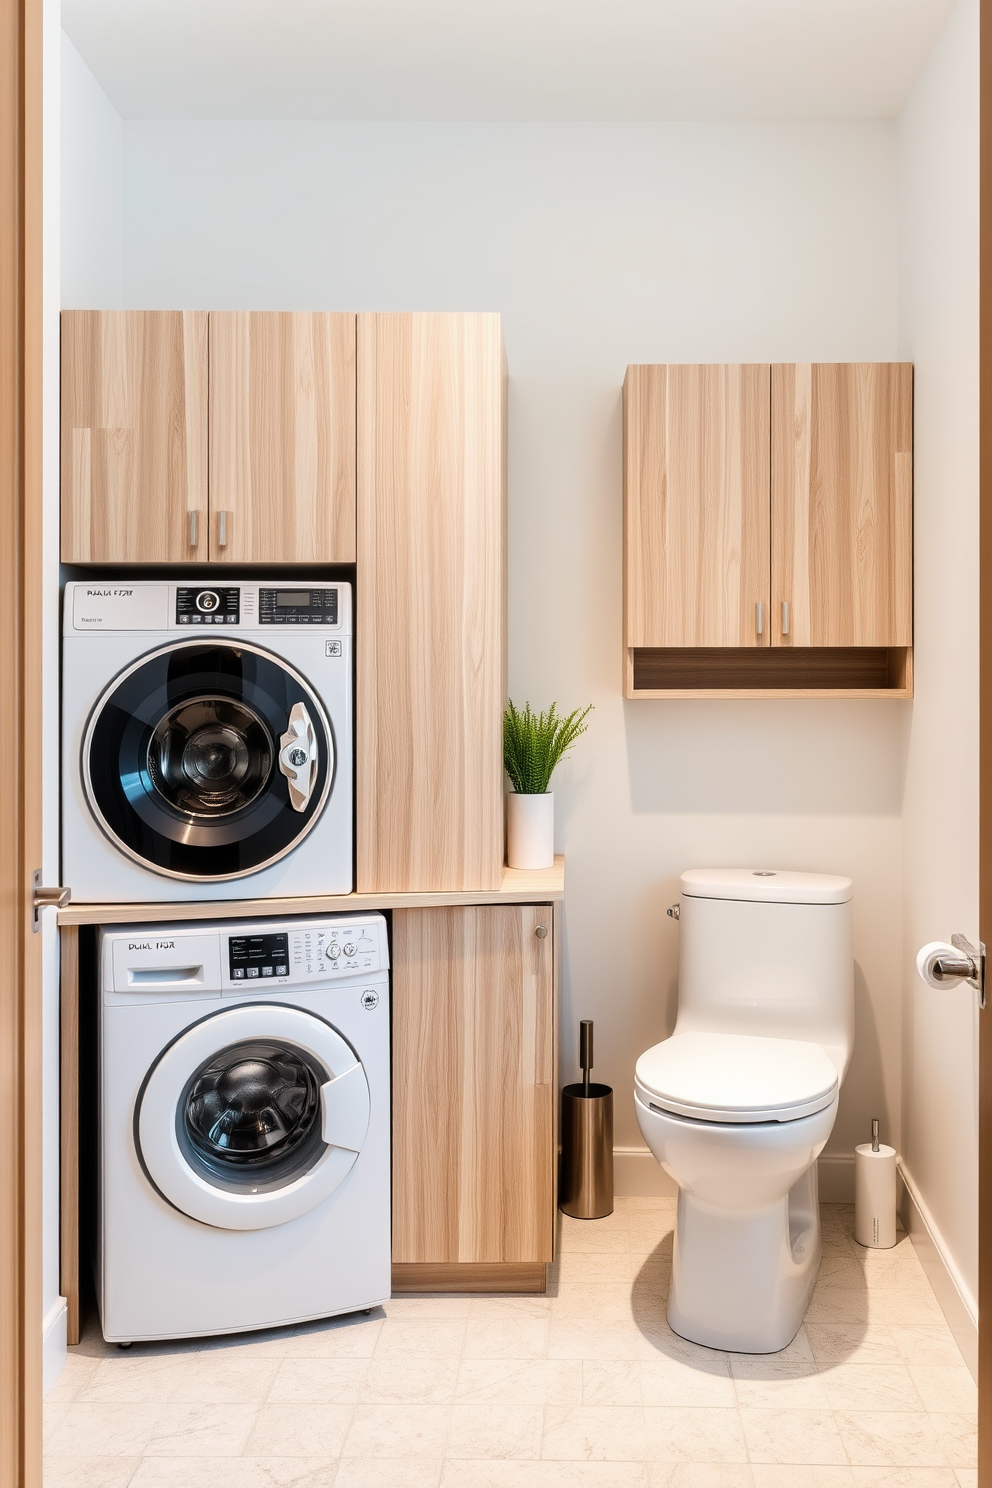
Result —
[[645, 1106], [696, 1120], [799, 1120], [830, 1106], [837, 1067], [818, 1043], [674, 1033], [637, 1061]]

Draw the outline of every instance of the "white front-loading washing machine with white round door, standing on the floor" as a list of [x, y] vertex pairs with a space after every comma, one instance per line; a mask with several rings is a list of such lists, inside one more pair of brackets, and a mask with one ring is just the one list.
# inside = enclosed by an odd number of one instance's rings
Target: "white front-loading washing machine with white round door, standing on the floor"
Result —
[[97, 1296], [110, 1342], [390, 1296], [381, 915], [100, 931]]

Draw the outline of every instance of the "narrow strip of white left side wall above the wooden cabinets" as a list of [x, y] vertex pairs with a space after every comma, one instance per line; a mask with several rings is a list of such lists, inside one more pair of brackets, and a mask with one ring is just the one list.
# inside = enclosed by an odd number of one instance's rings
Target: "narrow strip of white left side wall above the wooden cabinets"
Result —
[[61, 36], [62, 307], [120, 305], [123, 126], [82, 57]]

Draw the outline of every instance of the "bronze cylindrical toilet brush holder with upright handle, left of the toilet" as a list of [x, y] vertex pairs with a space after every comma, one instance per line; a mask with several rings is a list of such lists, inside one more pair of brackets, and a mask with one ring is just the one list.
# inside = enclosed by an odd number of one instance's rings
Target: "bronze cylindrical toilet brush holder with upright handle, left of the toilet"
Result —
[[579, 1024], [582, 1083], [562, 1089], [558, 1202], [573, 1219], [613, 1214], [613, 1089], [593, 1085], [592, 1021]]

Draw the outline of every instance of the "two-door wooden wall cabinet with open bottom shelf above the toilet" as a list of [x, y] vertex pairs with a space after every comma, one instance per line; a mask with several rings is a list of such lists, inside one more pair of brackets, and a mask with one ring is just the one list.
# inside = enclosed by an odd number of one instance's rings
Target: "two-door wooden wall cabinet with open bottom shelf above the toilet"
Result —
[[625, 696], [912, 695], [912, 375], [628, 368]]

